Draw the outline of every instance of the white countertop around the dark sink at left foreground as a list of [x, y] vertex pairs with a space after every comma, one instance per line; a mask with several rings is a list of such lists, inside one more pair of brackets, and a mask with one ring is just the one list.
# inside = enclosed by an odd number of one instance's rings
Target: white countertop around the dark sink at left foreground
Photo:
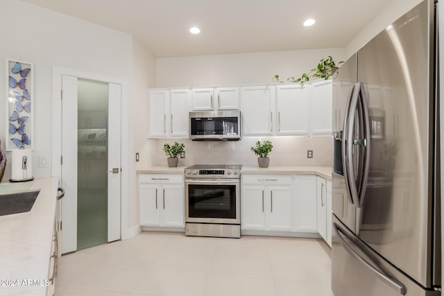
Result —
[[[46, 295], [44, 280], [52, 275], [52, 270], [49, 272], [49, 257], [57, 188], [57, 177], [23, 183], [0, 183], [0, 193], [3, 194], [40, 189], [31, 211], [0, 216], [0, 285], [3, 285], [0, 286], [0, 295]], [[29, 280], [34, 282], [24, 286]], [[39, 280], [42, 286], [37, 286]], [[10, 286], [11, 281], [18, 286]]]

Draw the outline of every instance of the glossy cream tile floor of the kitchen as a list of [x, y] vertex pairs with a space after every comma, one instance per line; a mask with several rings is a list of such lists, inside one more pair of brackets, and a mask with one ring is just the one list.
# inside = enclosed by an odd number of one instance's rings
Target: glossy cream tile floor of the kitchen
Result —
[[321, 239], [142, 232], [62, 256], [57, 296], [332, 296]]

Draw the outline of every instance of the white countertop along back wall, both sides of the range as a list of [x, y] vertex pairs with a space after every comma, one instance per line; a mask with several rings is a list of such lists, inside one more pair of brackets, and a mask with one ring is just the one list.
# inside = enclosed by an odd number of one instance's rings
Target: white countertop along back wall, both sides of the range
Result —
[[[149, 166], [143, 170], [137, 170], [138, 174], [182, 174], [187, 166], [169, 168], [168, 166]], [[259, 168], [254, 166], [242, 166], [241, 174], [275, 174], [275, 175], [318, 175], [327, 180], [332, 180], [331, 166], [269, 166]]]

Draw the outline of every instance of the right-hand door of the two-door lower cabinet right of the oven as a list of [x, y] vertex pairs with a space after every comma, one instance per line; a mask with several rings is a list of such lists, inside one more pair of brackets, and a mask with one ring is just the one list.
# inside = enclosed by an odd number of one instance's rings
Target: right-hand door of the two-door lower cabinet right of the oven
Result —
[[268, 228], [272, 230], [293, 229], [293, 194], [290, 186], [269, 187], [270, 203]]

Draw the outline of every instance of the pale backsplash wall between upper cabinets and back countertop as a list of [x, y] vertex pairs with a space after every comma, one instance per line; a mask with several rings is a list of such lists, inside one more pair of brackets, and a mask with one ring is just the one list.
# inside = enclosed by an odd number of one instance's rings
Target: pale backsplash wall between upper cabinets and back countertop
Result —
[[[316, 137], [244, 137], [240, 141], [191, 141], [189, 139], [156, 139], [151, 164], [166, 166], [164, 143], [175, 141], [185, 144], [185, 159], [179, 166], [194, 164], [242, 164], [257, 166], [257, 156], [250, 150], [256, 141], [269, 140], [273, 150], [268, 155], [270, 166], [332, 166], [331, 136]], [[152, 146], [154, 147], [154, 145]], [[313, 158], [307, 159], [307, 150], [313, 150]]]

